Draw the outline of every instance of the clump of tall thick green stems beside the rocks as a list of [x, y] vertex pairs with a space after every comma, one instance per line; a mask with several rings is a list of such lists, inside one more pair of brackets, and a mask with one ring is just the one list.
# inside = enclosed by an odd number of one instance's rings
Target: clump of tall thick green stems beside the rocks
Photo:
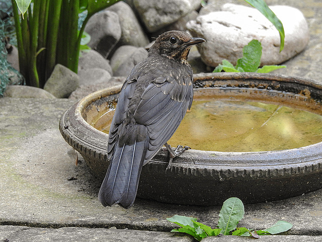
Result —
[[[118, 1], [12, 0], [19, 66], [26, 84], [43, 87], [56, 64], [77, 73], [87, 21]], [[84, 11], [87, 16], [78, 29], [78, 14]]]

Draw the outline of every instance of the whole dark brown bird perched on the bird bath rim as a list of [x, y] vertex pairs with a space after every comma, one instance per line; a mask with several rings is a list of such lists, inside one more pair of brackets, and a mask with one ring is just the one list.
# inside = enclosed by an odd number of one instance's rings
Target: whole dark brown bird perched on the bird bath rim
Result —
[[[104, 206], [133, 205], [142, 166], [171, 138], [191, 107], [193, 73], [187, 57], [191, 45], [204, 41], [181, 31], [165, 32], [125, 80], [109, 132], [110, 165], [99, 192]], [[182, 153], [166, 147], [171, 157]]]

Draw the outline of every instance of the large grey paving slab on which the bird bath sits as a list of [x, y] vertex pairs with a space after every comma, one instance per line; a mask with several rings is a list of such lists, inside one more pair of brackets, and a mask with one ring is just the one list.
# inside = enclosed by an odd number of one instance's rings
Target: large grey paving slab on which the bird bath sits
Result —
[[[132, 208], [104, 208], [100, 184], [80, 157], [76, 166], [58, 131], [66, 99], [0, 99], [0, 225], [170, 231], [175, 214], [214, 227], [220, 207], [181, 206], [136, 199]], [[259, 194], [260, 196], [260, 194]], [[264, 229], [285, 220], [292, 235], [322, 235], [322, 190], [245, 206], [240, 226]]]

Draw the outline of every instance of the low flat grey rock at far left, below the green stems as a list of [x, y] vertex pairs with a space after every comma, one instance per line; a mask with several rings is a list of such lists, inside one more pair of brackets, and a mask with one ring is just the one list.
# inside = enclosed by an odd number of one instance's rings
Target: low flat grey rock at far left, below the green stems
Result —
[[54, 95], [44, 89], [30, 86], [12, 85], [7, 86], [4, 97], [15, 98], [55, 98]]

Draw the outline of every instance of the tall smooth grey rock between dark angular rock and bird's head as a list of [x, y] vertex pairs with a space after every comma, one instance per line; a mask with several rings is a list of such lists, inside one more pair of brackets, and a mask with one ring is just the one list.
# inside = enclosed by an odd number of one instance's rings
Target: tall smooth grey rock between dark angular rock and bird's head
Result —
[[115, 12], [119, 16], [119, 22], [122, 30], [119, 45], [133, 45], [143, 47], [149, 43], [139, 21], [133, 10], [124, 2], [112, 5], [107, 10]]

